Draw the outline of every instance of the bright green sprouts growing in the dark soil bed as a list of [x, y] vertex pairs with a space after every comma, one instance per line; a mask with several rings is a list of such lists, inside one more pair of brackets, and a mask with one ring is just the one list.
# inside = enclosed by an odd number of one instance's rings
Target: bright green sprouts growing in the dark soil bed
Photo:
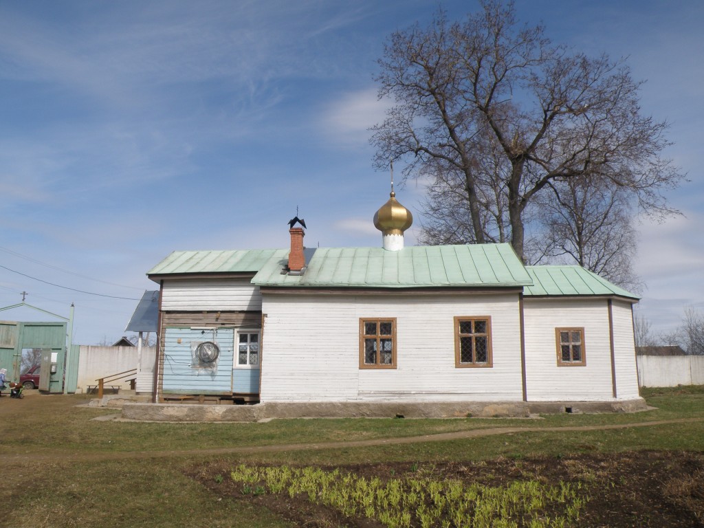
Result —
[[[389, 528], [565, 528], [579, 520], [588, 500], [578, 494], [581, 483], [548, 486], [527, 480], [492, 487], [431, 478], [382, 482], [318, 467], [246, 465], [231, 476], [248, 492], [305, 496], [345, 517], [368, 517]], [[562, 515], [550, 517], [553, 511]]]

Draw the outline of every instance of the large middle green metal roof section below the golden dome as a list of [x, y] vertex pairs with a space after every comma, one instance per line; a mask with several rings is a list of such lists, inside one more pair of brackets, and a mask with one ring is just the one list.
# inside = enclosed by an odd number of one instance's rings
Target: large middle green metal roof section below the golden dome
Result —
[[277, 287], [520, 287], [532, 284], [509, 244], [320, 248], [303, 275], [282, 275], [287, 253], [252, 279]]

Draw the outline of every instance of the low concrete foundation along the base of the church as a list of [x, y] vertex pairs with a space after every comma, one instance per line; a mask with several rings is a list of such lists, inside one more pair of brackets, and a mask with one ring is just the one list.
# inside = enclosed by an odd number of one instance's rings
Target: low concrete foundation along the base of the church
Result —
[[643, 398], [570, 402], [267, 402], [253, 406], [189, 403], [122, 403], [122, 418], [153, 422], [258, 422], [272, 418], [464, 418], [529, 417], [554, 413], [632, 413]]

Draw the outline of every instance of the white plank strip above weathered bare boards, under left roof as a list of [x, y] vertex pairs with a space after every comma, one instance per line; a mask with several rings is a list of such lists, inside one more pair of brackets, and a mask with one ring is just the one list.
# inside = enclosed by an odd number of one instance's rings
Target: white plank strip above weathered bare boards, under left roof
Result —
[[259, 287], [249, 279], [164, 281], [161, 309], [166, 311], [260, 311]]

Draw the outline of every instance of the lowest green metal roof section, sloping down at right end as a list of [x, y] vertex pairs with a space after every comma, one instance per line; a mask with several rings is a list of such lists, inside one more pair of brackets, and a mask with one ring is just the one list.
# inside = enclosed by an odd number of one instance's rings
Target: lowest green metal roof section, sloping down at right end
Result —
[[526, 266], [533, 284], [523, 290], [526, 296], [617, 295], [638, 299], [596, 273], [581, 266]]

